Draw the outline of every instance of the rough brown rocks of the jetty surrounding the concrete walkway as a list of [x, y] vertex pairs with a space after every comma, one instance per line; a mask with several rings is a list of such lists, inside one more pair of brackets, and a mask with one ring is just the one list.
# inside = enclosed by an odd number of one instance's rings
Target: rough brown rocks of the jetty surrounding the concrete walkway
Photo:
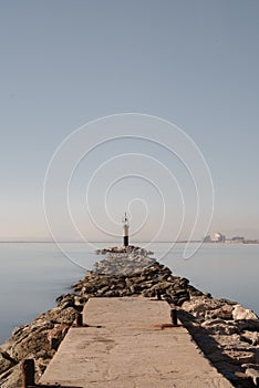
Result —
[[56, 299], [56, 307], [14, 329], [0, 346], [1, 388], [21, 386], [20, 363], [25, 358], [35, 360], [35, 381], [40, 380], [90, 298], [138, 296], [166, 300], [169, 307], [177, 308], [196, 344], [234, 387], [257, 386], [259, 319], [255, 313], [236, 302], [215, 299], [198, 290], [145, 252], [135, 249], [131, 265], [128, 262], [125, 252], [106, 252], [106, 258], [96, 263], [94, 270], [86, 272], [70, 294]]

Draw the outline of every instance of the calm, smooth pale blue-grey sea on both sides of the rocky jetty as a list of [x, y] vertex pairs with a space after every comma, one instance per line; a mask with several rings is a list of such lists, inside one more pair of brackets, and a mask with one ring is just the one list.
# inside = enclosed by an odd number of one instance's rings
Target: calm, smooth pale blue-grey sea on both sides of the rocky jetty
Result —
[[[194, 243], [195, 244], [195, 243]], [[111, 245], [111, 243], [110, 243]], [[92, 269], [108, 243], [0, 243], [0, 344], [14, 327], [55, 306], [55, 298]], [[116, 245], [116, 244], [112, 244]], [[174, 275], [217, 298], [240, 303], [259, 315], [259, 244], [203, 244], [186, 259], [184, 243], [138, 243]]]

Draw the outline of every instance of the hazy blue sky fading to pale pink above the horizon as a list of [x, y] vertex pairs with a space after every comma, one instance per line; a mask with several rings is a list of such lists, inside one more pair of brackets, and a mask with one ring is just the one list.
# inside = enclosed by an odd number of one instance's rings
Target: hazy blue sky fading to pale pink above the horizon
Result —
[[133, 238], [188, 238], [197, 197], [193, 237], [259, 238], [258, 20], [256, 0], [1, 0], [0, 241], [116, 238], [125, 210]]

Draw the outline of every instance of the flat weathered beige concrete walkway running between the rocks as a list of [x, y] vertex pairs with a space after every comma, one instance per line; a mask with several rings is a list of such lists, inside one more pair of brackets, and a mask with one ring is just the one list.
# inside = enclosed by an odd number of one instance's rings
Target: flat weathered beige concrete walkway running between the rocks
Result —
[[73, 388], [229, 388], [184, 327], [169, 325], [166, 302], [91, 298], [89, 327], [72, 328], [41, 384]]

